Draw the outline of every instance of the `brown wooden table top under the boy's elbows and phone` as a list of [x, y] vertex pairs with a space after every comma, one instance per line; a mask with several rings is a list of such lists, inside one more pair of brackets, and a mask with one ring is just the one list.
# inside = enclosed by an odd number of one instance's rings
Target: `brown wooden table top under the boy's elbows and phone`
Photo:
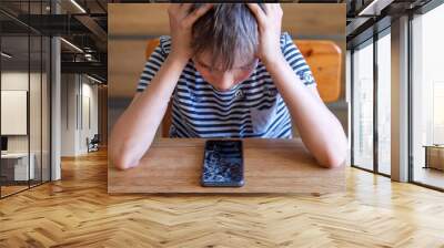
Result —
[[109, 163], [108, 193], [334, 193], [345, 189], [344, 166], [323, 168], [301, 140], [243, 140], [245, 185], [202, 187], [205, 140], [161, 138], [135, 168]]

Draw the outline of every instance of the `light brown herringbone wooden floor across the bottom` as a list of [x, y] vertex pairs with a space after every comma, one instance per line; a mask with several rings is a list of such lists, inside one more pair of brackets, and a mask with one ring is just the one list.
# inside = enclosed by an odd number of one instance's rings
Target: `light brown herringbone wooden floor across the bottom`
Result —
[[347, 168], [330, 195], [107, 194], [107, 154], [0, 200], [0, 247], [444, 247], [444, 194]]

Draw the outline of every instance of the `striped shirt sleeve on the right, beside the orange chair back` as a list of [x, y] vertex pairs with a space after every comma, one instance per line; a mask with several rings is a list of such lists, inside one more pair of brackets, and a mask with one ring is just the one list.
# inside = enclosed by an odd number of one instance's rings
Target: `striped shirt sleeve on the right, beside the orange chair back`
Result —
[[293, 43], [293, 39], [289, 33], [283, 33], [281, 37], [281, 48], [286, 62], [293, 69], [294, 73], [301, 79], [306, 86], [316, 86], [313, 73], [306, 63], [304, 56]]

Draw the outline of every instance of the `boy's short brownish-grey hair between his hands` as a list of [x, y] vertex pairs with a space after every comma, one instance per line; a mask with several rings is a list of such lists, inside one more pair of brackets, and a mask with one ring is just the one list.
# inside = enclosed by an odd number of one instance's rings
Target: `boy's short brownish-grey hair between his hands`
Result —
[[[201, 6], [193, 4], [191, 11]], [[236, 59], [250, 60], [256, 53], [258, 39], [256, 19], [245, 3], [215, 3], [194, 22], [191, 49], [194, 55], [209, 52], [211, 68], [220, 65], [229, 71]]]

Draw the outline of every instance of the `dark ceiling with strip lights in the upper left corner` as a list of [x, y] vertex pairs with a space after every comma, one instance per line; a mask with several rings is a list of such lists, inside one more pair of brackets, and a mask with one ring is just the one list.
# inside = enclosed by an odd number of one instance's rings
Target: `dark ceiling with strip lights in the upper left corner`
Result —
[[51, 6], [49, 0], [1, 0], [2, 51], [12, 55], [8, 60], [2, 56], [2, 66], [24, 70], [28, 63], [31, 68], [39, 64], [41, 45], [36, 43], [41, 37], [60, 35], [68, 41], [61, 42], [62, 72], [88, 73], [107, 81], [107, 3], [52, 0]]

